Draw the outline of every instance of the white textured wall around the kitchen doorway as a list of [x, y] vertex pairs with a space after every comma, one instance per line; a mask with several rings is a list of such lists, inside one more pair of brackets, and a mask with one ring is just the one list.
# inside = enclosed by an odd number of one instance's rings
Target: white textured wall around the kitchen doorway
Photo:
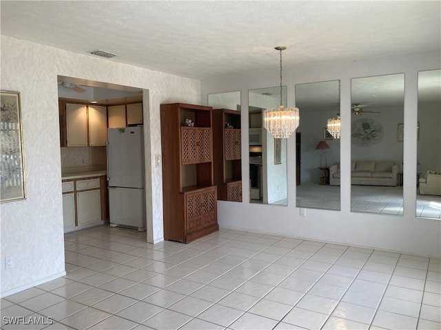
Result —
[[21, 93], [27, 197], [1, 204], [1, 295], [64, 274], [57, 75], [144, 89], [147, 239], [163, 239], [160, 104], [198, 104], [197, 80], [1, 36], [1, 89]]

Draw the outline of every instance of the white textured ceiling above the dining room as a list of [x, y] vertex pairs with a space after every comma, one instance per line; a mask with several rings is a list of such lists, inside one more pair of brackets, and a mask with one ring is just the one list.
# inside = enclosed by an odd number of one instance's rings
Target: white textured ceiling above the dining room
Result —
[[[440, 1], [0, 1], [1, 34], [206, 80], [440, 50]], [[90, 55], [94, 56], [94, 55]]]

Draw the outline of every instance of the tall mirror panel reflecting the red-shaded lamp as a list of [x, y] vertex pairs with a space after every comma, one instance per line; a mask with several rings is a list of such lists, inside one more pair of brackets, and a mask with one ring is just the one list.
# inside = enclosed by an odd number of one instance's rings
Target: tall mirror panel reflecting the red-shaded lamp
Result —
[[327, 130], [330, 118], [340, 118], [339, 87], [339, 80], [296, 85], [298, 208], [340, 210], [340, 136]]

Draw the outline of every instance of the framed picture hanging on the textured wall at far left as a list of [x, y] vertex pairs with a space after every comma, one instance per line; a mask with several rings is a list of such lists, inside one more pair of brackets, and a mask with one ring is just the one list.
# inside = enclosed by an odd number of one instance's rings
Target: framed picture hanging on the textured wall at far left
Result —
[[20, 93], [0, 91], [0, 202], [25, 199]]

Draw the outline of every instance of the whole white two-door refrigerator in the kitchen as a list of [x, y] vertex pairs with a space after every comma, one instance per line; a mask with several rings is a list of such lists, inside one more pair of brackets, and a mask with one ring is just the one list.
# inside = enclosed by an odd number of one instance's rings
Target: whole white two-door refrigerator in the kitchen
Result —
[[107, 129], [110, 226], [145, 230], [143, 127]]

